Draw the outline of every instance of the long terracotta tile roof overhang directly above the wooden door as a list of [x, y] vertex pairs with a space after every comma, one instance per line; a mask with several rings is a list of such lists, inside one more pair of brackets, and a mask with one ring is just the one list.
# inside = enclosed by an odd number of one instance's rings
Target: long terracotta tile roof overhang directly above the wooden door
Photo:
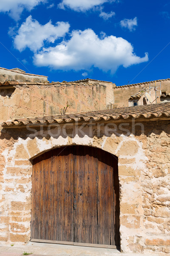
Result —
[[42, 116], [25, 119], [15, 119], [14, 121], [3, 122], [3, 128], [22, 128], [26, 125], [30, 127], [40, 127], [64, 123], [88, 123], [106, 121], [130, 121], [140, 119], [142, 121], [170, 120], [170, 102], [142, 105], [128, 108], [116, 108], [111, 110], [101, 110], [83, 113], [70, 113], [67, 115]]

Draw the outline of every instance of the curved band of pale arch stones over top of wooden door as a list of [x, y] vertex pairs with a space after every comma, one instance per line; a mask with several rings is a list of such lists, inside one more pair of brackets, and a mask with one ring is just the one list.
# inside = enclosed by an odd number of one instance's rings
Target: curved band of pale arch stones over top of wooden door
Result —
[[[59, 137], [57, 139], [51, 137], [50, 139], [42, 138], [39, 139], [34, 137], [34, 139], [28, 138], [25, 141], [19, 143], [24, 146], [25, 150], [21, 150], [20, 154], [25, 154], [25, 159], [34, 159], [40, 154], [49, 151], [54, 148], [68, 146], [68, 145], [85, 145], [92, 146], [95, 148], [101, 148], [117, 157], [121, 158], [133, 158], [137, 157], [139, 154], [144, 157], [142, 152], [142, 145], [133, 137], [121, 137], [113, 134], [111, 137]], [[139, 157], [138, 157], [139, 158]], [[146, 159], [146, 157], [144, 157]]]

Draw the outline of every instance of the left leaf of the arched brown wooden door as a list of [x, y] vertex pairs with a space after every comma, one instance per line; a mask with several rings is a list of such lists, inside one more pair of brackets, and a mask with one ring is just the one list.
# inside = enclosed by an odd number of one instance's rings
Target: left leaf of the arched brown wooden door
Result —
[[33, 239], [74, 241], [73, 152], [57, 148], [33, 161]]

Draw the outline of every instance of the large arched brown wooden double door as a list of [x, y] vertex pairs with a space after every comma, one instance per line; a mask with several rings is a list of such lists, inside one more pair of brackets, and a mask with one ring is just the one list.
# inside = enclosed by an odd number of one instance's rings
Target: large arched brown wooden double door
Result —
[[31, 241], [119, 247], [117, 158], [67, 146], [33, 160]]

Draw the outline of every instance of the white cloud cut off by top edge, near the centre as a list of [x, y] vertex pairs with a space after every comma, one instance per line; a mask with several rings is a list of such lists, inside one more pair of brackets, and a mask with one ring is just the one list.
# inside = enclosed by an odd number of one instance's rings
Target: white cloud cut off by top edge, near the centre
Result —
[[62, 0], [58, 7], [61, 9], [68, 7], [77, 12], [85, 12], [107, 2], [113, 2], [113, 0]]

